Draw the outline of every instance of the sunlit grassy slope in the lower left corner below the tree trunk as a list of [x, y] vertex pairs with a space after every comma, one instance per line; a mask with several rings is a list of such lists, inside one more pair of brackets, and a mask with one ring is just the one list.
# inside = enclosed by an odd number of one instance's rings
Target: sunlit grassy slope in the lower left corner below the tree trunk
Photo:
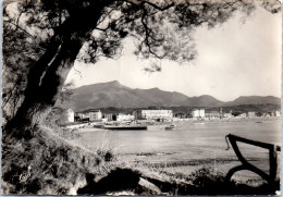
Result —
[[70, 194], [85, 184], [86, 173], [99, 177], [107, 173], [101, 168], [111, 170], [107, 155], [91, 152], [53, 131], [42, 126], [29, 141], [3, 136], [4, 194]]

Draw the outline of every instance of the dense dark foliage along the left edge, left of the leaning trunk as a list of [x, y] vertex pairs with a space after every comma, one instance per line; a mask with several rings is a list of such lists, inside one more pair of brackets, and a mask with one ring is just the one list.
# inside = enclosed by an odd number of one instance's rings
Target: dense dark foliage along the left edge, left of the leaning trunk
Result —
[[15, 14], [3, 9], [2, 110], [5, 120], [15, 115], [16, 109], [24, 98], [26, 74], [30, 64], [37, 61], [44, 52], [38, 39], [19, 25], [24, 12], [24, 9], [20, 9]]

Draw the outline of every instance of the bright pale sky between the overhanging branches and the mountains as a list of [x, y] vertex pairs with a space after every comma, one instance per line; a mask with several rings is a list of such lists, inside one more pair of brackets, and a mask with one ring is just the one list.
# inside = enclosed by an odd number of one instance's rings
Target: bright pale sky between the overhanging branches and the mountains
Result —
[[119, 81], [131, 88], [158, 87], [189, 97], [211, 95], [222, 101], [254, 95], [281, 97], [281, 13], [258, 8], [246, 20], [236, 14], [214, 28], [199, 27], [194, 38], [198, 57], [192, 63], [161, 61], [161, 72], [145, 72], [152, 60], [137, 59], [128, 39], [118, 60], [76, 62], [66, 83], [79, 87]]

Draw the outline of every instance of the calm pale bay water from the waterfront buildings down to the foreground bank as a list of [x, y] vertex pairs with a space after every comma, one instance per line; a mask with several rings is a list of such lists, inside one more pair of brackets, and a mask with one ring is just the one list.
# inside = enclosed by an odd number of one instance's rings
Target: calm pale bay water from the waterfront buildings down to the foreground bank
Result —
[[[164, 125], [148, 126], [147, 131], [82, 128], [79, 143], [94, 151], [111, 149], [118, 159], [128, 163], [157, 164], [167, 172], [190, 174], [199, 168], [211, 167], [214, 172], [225, 174], [241, 164], [232, 147], [225, 150], [227, 134], [281, 145], [281, 120], [260, 120], [262, 123], [257, 123], [258, 121], [176, 122], [176, 130], [173, 131], [165, 131]], [[238, 147], [251, 164], [269, 173], [267, 149], [243, 143], [238, 143]], [[233, 177], [243, 181], [258, 176], [249, 171], [241, 171]]]

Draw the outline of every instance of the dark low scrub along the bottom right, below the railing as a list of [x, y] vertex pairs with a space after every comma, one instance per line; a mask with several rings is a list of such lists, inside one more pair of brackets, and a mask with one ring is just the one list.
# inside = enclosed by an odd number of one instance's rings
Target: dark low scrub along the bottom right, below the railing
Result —
[[[216, 172], [213, 168], [198, 167], [198, 170], [190, 172], [188, 175], [185, 172], [186, 170], [170, 173], [169, 169], [155, 168], [151, 170], [148, 169], [148, 165], [140, 164], [137, 169], [142, 177], [160, 188], [162, 195], [274, 195], [280, 189], [280, 182], [267, 184], [259, 180], [249, 180], [258, 184], [250, 185], [244, 181], [236, 183], [233, 180], [225, 181], [225, 174]], [[143, 195], [157, 194], [151, 194], [148, 190]]]

